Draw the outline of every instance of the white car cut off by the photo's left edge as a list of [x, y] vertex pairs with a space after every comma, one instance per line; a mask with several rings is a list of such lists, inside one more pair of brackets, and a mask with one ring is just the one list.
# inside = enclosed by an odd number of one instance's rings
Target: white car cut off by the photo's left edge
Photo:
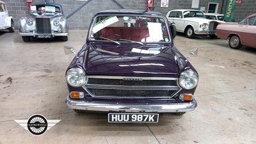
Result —
[[8, 10], [3, 1], [0, 1], [0, 30], [8, 29], [10, 33], [14, 32], [14, 22], [12, 17], [8, 15]]

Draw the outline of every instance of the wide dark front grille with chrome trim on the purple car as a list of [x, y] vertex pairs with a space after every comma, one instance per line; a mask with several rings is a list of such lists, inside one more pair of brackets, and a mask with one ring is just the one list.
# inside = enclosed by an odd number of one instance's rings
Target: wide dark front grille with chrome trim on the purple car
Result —
[[92, 97], [171, 98], [179, 92], [177, 78], [89, 76], [83, 87]]

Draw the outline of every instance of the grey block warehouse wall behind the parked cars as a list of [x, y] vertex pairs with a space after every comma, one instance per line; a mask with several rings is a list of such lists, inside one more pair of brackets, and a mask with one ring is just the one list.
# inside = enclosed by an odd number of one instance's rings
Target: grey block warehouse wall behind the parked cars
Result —
[[[26, 0], [2, 0], [6, 3], [9, 14], [13, 16], [15, 21], [15, 27], [17, 28], [18, 21], [23, 15], [28, 15], [28, 4], [24, 3]], [[52, 2], [52, 0], [49, 0]], [[136, 10], [147, 10], [147, 1], [145, 0], [116, 0], [118, 3], [122, 4], [126, 9], [136, 9]], [[227, 0], [214, 0], [219, 3], [218, 13], [225, 12], [225, 5]], [[36, 3], [43, 3], [44, 0], [33, 0]], [[207, 10], [208, 3], [212, 0], [200, 0], [199, 8], [205, 7]], [[74, 0], [55, 0], [55, 3], [59, 3], [63, 6], [65, 15], [74, 12], [79, 6], [84, 4], [84, 1], [74, 1]], [[221, 4], [223, 3], [223, 6]], [[175, 9], [191, 9], [192, 0], [169, 0], [168, 8], [161, 8], [161, 0], [154, 0], [154, 11], [161, 12], [164, 15], [169, 10]], [[112, 0], [92, 0], [86, 6], [84, 6], [77, 13], [72, 15], [68, 19], [68, 24], [70, 29], [87, 29], [90, 26], [91, 19], [96, 12], [106, 9], [119, 9], [120, 7], [114, 3]], [[242, 5], [236, 5], [236, 17], [237, 21], [244, 19], [244, 17], [256, 13], [256, 1], [255, 0], [243, 0]]]

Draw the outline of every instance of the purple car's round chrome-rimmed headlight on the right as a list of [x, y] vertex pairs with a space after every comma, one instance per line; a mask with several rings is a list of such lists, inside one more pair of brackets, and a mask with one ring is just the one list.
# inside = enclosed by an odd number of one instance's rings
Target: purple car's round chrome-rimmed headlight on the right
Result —
[[198, 84], [198, 75], [193, 70], [186, 70], [180, 74], [179, 84], [186, 90], [195, 88]]

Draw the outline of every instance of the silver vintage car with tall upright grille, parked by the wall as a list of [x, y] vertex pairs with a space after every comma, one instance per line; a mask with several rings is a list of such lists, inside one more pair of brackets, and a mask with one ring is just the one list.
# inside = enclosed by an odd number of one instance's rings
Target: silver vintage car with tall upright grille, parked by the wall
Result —
[[19, 20], [19, 35], [24, 42], [35, 38], [53, 38], [61, 36], [68, 40], [68, 23], [60, 4], [33, 3], [29, 16]]

